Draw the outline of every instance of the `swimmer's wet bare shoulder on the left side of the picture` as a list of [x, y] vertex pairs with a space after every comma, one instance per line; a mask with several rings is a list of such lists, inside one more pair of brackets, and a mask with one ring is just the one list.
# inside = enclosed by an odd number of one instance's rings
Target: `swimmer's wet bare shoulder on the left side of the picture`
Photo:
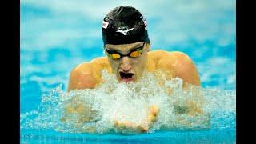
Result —
[[75, 66], [70, 72], [68, 91], [74, 89], [94, 88], [101, 79], [102, 70], [110, 71], [106, 57], [94, 58]]

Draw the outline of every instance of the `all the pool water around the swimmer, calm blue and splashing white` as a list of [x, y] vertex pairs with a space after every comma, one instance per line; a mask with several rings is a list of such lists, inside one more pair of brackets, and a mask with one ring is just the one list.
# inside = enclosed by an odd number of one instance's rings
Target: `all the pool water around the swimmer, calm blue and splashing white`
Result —
[[[21, 2], [21, 143], [236, 142], [235, 1], [102, 2], [97, 3], [102, 8], [98, 11], [91, 9], [95, 5], [93, 1]], [[66, 93], [69, 73], [74, 66], [104, 56], [100, 29], [102, 18], [119, 5], [138, 7], [146, 15], [151, 50], [182, 51], [194, 60], [202, 81], [202, 89], [198, 91], [206, 98], [203, 110], [210, 114], [210, 128], [200, 125], [201, 118], [186, 116], [182, 117], [191, 120], [192, 126], [175, 125], [174, 118], [177, 117], [172, 103], [182, 102], [190, 98], [190, 94], [183, 94], [176, 87], [174, 99], [167, 98], [150, 76], [145, 78], [144, 84], [125, 86], [113, 81], [110, 82], [113, 85], [102, 85], [96, 90]], [[171, 17], [166, 15], [166, 10]], [[105, 76], [110, 81], [114, 79], [109, 74]], [[175, 82], [167, 83], [174, 86]], [[145, 89], [133, 91], [139, 86]], [[111, 87], [117, 91], [108, 93]], [[143, 94], [151, 97], [143, 99]], [[90, 104], [110, 117], [102, 117], [96, 123], [97, 134], [76, 131], [72, 123], [66, 125], [59, 121], [62, 104], [68, 102], [63, 95], [66, 98], [79, 95], [85, 100], [98, 98], [89, 101]], [[104, 97], [106, 95], [113, 99]], [[134, 101], [125, 96], [134, 98]], [[119, 105], [107, 105], [108, 102], [117, 102], [114, 98], [119, 98]], [[194, 101], [198, 102], [198, 99]], [[138, 105], [138, 102], [143, 105]], [[122, 103], [126, 103], [123, 109]], [[136, 110], [141, 110], [143, 115], [146, 111], [143, 106], [155, 103], [161, 104], [162, 113], [150, 133], [104, 132], [113, 128], [111, 110], [128, 111], [126, 119], [139, 120], [142, 116]], [[169, 129], [161, 129], [161, 126]]]

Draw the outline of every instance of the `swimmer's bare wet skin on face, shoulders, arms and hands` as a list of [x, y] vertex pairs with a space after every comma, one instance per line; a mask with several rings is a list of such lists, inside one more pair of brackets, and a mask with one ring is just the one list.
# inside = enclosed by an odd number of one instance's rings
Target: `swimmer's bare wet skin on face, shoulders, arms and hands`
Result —
[[[186, 54], [178, 51], [150, 51], [150, 44], [145, 43], [143, 45], [143, 43], [135, 42], [123, 45], [107, 44], [105, 49], [118, 51], [122, 55], [129, 54], [130, 51], [141, 46], [143, 46], [143, 50], [142, 54], [137, 58], [130, 58], [128, 56], [119, 58], [118, 60], [110, 57], [95, 58], [91, 62], [84, 62], [76, 66], [70, 73], [68, 91], [95, 88], [99, 82], [102, 82], [101, 74], [103, 69], [115, 74], [119, 82], [137, 82], [142, 77], [144, 71], [156, 73], [158, 70], [161, 70], [166, 74], [167, 79], [182, 78], [184, 89], [186, 89], [187, 84], [194, 86], [201, 85], [198, 70], [194, 62]], [[188, 106], [191, 106], [191, 104], [188, 104]], [[200, 107], [194, 105], [192, 107], [191, 109], [187, 108], [187, 114], [202, 114]], [[67, 111], [69, 111], [68, 109], [67, 107]], [[84, 110], [79, 109], [78, 111], [83, 114]], [[146, 132], [149, 130], [150, 125], [156, 121], [159, 111], [158, 106], [150, 106], [145, 122], [136, 124], [116, 120], [114, 121], [114, 126], [120, 129], [134, 129], [139, 132]]]

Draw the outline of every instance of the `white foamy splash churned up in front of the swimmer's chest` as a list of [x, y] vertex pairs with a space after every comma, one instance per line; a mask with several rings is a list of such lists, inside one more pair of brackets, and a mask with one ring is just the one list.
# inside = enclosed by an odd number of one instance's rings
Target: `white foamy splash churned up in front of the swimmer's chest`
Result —
[[[163, 78], [159, 86], [154, 74], [145, 73], [139, 82], [119, 83], [114, 74], [102, 71], [104, 83], [95, 89], [71, 90], [69, 93], [57, 86], [49, 94], [42, 94], [38, 110], [21, 114], [21, 128], [53, 129], [68, 133], [83, 133], [93, 130], [102, 134], [106, 132], [134, 133], [136, 131], [118, 130], [114, 121], [143, 122], [150, 106], [158, 106], [158, 120], [150, 126], [150, 132], [160, 129], [206, 129], [235, 126], [235, 91], [204, 89], [189, 86], [182, 89], [182, 79]], [[173, 92], [169, 94], [166, 87]], [[204, 114], [190, 116], [177, 114], [175, 106], [184, 106], [186, 101], [202, 106]], [[71, 104], [72, 103], [72, 104]], [[66, 106], [83, 104], [90, 108], [85, 111], [89, 122], [81, 122], [81, 114], [70, 114], [62, 122]], [[182, 109], [181, 109], [182, 110]], [[207, 119], [210, 118], [210, 121]]]

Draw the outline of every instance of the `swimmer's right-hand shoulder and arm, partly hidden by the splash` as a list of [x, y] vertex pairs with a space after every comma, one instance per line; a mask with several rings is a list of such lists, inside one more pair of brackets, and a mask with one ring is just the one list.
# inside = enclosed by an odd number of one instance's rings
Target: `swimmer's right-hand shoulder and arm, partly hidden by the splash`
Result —
[[[164, 71], [171, 71], [172, 78], [178, 77], [183, 80], [183, 89], [189, 90], [190, 84], [201, 86], [198, 70], [189, 56], [182, 52], [166, 53], [158, 62], [158, 67]], [[168, 78], [168, 77], [167, 77]], [[170, 90], [170, 94], [172, 90]], [[203, 96], [202, 96], [203, 98]], [[188, 100], [186, 106], [174, 106], [179, 114], [202, 114], [202, 106]]]

